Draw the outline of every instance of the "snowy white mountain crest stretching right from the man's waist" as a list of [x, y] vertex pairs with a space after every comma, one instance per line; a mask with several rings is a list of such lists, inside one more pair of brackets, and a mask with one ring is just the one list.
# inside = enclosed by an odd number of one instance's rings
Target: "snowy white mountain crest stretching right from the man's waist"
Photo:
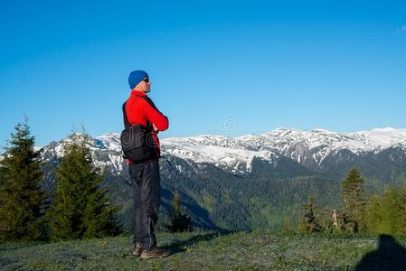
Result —
[[197, 162], [227, 164], [231, 167], [240, 161], [250, 171], [254, 156], [271, 160], [283, 154], [300, 164], [323, 163], [329, 154], [349, 150], [354, 154], [378, 153], [394, 145], [406, 146], [406, 129], [382, 128], [357, 133], [340, 134], [324, 129], [303, 131], [278, 128], [260, 135], [226, 137], [199, 135], [171, 137], [162, 140], [169, 154]]

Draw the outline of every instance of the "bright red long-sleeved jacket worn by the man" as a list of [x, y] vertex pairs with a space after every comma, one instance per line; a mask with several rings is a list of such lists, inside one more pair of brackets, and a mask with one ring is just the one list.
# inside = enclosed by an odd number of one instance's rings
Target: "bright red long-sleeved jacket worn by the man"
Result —
[[[148, 99], [148, 101], [146, 101]], [[126, 104], [127, 119], [130, 125], [141, 124], [146, 126], [146, 120], [155, 124], [159, 131], [165, 131], [168, 126], [168, 118], [165, 117], [154, 105], [152, 100], [144, 92], [132, 90]], [[161, 156], [159, 139], [157, 133], [152, 130], [152, 136], [156, 143], [156, 157]], [[131, 161], [127, 159], [127, 164]]]

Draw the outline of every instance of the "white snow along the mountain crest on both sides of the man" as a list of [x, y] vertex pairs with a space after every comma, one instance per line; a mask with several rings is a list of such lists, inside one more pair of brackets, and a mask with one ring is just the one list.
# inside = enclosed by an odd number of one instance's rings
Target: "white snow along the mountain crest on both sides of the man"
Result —
[[[44, 158], [60, 157], [64, 138], [44, 147]], [[281, 156], [312, 169], [322, 167], [326, 158], [349, 151], [355, 155], [379, 154], [391, 147], [406, 152], [406, 129], [375, 128], [356, 133], [335, 133], [323, 129], [311, 131], [278, 128], [259, 135], [228, 137], [198, 135], [169, 137], [160, 140], [162, 155], [175, 156], [197, 164], [213, 164], [231, 173], [250, 173], [254, 157], [276, 166]], [[118, 133], [89, 138], [95, 163], [110, 173], [121, 173], [125, 161], [121, 156]]]

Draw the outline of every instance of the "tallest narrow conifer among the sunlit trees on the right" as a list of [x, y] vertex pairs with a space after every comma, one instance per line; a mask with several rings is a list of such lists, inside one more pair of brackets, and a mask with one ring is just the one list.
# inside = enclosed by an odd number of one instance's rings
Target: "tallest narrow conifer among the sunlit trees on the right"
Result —
[[356, 168], [352, 168], [342, 183], [342, 199], [345, 215], [352, 224], [351, 231], [361, 232], [365, 227], [365, 181]]

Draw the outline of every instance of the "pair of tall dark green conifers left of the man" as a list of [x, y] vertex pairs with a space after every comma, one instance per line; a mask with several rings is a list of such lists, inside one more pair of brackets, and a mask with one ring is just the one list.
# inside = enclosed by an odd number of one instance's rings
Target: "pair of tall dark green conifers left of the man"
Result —
[[14, 127], [0, 161], [0, 241], [67, 240], [116, 235], [120, 227], [109, 192], [100, 186], [86, 145], [73, 133], [52, 172], [52, 192], [42, 189], [42, 149], [35, 150], [28, 119]]

